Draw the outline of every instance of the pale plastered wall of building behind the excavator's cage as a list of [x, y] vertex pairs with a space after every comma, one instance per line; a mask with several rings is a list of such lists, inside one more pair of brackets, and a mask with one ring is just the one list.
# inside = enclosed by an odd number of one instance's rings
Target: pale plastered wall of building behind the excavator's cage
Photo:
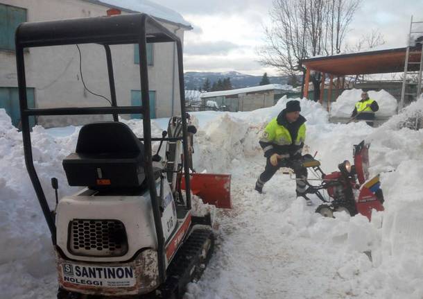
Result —
[[[107, 7], [80, 0], [0, 0], [0, 3], [27, 9], [27, 21], [46, 21], [71, 17], [106, 15]], [[122, 12], [125, 13], [125, 12]], [[183, 41], [184, 30], [162, 23]], [[130, 105], [131, 90], [139, 90], [139, 65], [134, 63], [134, 45], [111, 46], [116, 99], [118, 105]], [[80, 45], [82, 71], [88, 89], [110, 99], [105, 51], [96, 44]], [[149, 87], [155, 91], [156, 117], [180, 114], [178, 67], [173, 67], [173, 43], [153, 46], [153, 66], [148, 66]], [[80, 58], [76, 46], [31, 48], [25, 52], [26, 83], [35, 87], [35, 107], [107, 106], [105, 99], [89, 94], [80, 78]], [[176, 56], [176, 55], [175, 55]], [[17, 87], [15, 53], [0, 50], [0, 87]], [[173, 101], [173, 105], [172, 105]], [[130, 115], [122, 115], [130, 118]], [[107, 117], [106, 117], [107, 118]], [[40, 117], [46, 127], [66, 126], [102, 119], [100, 116]]]

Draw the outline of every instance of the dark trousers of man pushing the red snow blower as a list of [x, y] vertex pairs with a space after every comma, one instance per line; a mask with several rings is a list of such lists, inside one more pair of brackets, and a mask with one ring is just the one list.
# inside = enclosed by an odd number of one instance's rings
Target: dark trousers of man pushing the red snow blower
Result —
[[295, 172], [295, 178], [300, 179], [295, 181], [297, 182], [297, 196], [304, 194], [304, 192], [307, 190], [307, 168], [302, 166], [301, 160], [281, 159], [278, 160], [277, 166], [273, 166], [270, 163], [270, 158], [268, 158], [266, 160], [266, 168], [259, 176], [259, 179], [256, 182], [256, 186], [258, 186], [260, 189], [263, 188], [264, 184], [266, 184], [266, 182], [270, 180], [270, 178], [272, 178], [276, 171], [281, 167], [289, 167], [293, 169]]

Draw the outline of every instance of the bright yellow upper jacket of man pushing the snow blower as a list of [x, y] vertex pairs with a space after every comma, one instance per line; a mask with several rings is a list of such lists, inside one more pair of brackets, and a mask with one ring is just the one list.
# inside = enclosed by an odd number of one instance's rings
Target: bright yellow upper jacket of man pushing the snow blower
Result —
[[[299, 146], [306, 139], [306, 125], [303, 123], [298, 129], [297, 138], [295, 139], [295, 145]], [[284, 126], [281, 126], [277, 123], [277, 118], [275, 117], [268, 123], [264, 129], [263, 138], [264, 142], [273, 142], [277, 145], [290, 145], [292, 144], [292, 137], [289, 134], [288, 129]]]

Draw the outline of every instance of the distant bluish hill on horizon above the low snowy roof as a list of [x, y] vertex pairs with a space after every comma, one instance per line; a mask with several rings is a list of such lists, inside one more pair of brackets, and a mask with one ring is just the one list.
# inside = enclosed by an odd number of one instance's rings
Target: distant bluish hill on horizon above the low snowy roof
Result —
[[[202, 87], [206, 78], [209, 78], [210, 85], [213, 85], [215, 81], [227, 77], [231, 79], [232, 87], [236, 89], [257, 86], [259, 85], [262, 76], [246, 75], [237, 71], [227, 71], [223, 73], [187, 71], [184, 74], [185, 89], [198, 89], [199, 87]], [[288, 76], [269, 76], [268, 78], [272, 84], [287, 84], [288, 81]]]

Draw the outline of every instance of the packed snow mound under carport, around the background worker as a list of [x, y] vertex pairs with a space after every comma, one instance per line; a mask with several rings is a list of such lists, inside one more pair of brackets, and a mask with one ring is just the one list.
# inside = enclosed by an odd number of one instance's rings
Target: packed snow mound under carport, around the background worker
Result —
[[[331, 104], [331, 117], [351, 117], [357, 101], [361, 100], [362, 89], [344, 90], [338, 99]], [[379, 111], [375, 113], [376, 117], [390, 117], [397, 113], [397, 99], [391, 94], [381, 89], [379, 92], [370, 90], [369, 98], [377, 101]]]

